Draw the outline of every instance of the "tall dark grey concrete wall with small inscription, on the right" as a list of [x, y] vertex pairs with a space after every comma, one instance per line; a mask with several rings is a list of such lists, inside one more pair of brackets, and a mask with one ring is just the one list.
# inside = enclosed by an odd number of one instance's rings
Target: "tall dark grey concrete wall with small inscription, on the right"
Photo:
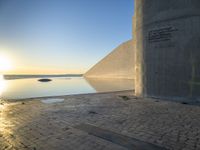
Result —
[[200, 1], [135, 0], [138, 96], [200, 98]]

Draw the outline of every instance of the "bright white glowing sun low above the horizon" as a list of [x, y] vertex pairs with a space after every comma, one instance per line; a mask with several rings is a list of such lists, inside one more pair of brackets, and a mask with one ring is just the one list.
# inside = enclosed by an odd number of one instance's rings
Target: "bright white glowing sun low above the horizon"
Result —
[[10, 59], [5, 55], [0, 54], [0, 72], [8, 71], [10, 69], [12, 69]]

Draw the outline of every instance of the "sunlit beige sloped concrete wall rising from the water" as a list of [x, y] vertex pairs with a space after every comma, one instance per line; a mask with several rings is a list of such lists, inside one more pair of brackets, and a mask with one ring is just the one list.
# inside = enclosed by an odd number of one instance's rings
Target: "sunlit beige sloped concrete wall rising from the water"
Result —
[[127, 41], [102, 59], [88, 72], [86, 78], [134, 79], [134, 41]]

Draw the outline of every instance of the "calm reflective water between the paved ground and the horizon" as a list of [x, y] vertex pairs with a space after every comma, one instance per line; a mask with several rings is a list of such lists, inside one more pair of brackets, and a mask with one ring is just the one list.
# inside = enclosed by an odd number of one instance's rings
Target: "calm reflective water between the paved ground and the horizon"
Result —
[[51, 82], [44, 83], [38, 82], [38, 78], [4, 80], [0, 76], [0, 98], [21, 99], [132, 90], [134, 85], [133, 80], [88, 80], [83, 77], [58, 77], [51, 79]]

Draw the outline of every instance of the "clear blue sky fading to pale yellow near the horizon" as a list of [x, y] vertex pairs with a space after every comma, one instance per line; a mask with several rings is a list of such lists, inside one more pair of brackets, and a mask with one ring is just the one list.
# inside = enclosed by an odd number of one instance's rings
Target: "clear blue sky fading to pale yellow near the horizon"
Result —
[[131, 39], [133, 3], [0, 0], [0, 73], [85, 73]]

